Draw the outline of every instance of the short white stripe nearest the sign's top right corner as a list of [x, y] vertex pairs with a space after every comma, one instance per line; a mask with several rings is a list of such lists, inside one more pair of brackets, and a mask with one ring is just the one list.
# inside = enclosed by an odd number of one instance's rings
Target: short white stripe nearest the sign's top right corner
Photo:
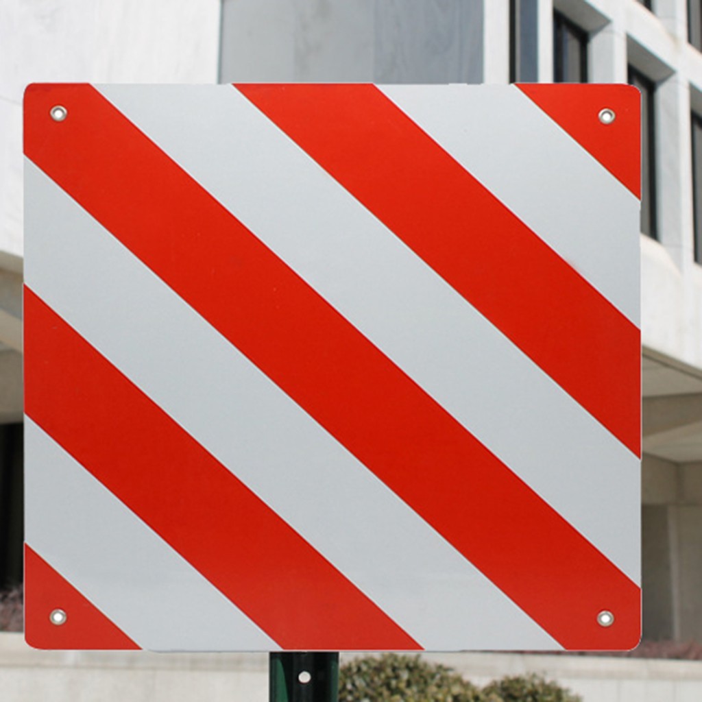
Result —
[[538, 105], [516, 86], [381, 90], [639, 326], [639, 201]]

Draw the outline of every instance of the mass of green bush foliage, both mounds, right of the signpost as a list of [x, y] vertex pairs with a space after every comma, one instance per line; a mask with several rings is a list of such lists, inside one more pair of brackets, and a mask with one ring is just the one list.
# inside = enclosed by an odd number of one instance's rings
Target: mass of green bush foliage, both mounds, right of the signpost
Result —
[[538, 675], [504, 677], [480, 689], [419, 656], [366, 656], [339, 670], [339, 702], [582, 702]]

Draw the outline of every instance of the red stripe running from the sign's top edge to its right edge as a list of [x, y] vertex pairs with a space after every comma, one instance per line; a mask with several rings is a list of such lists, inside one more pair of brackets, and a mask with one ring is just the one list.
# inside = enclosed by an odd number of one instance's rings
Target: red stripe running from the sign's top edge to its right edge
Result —
[[373, 86], [238, 87], [640, 455], [639, 330], [463, 166]]

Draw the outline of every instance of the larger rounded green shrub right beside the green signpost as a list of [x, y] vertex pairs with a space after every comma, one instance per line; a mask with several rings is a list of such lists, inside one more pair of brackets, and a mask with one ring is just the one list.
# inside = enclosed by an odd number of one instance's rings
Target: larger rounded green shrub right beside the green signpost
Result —
[[419, 656], [355, 658], [339, 670], [339, 702], [483, 702], [475, 685]]

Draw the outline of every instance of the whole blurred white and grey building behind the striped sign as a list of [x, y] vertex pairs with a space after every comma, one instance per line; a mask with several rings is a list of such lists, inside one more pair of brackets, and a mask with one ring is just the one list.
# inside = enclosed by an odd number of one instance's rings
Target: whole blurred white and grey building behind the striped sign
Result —
[[644, 637], [702, 641], [702, 0], [8, 0], [0, 47], [0, 581], [21, 558], [27, 83], [628, 81], [644, 117]]

